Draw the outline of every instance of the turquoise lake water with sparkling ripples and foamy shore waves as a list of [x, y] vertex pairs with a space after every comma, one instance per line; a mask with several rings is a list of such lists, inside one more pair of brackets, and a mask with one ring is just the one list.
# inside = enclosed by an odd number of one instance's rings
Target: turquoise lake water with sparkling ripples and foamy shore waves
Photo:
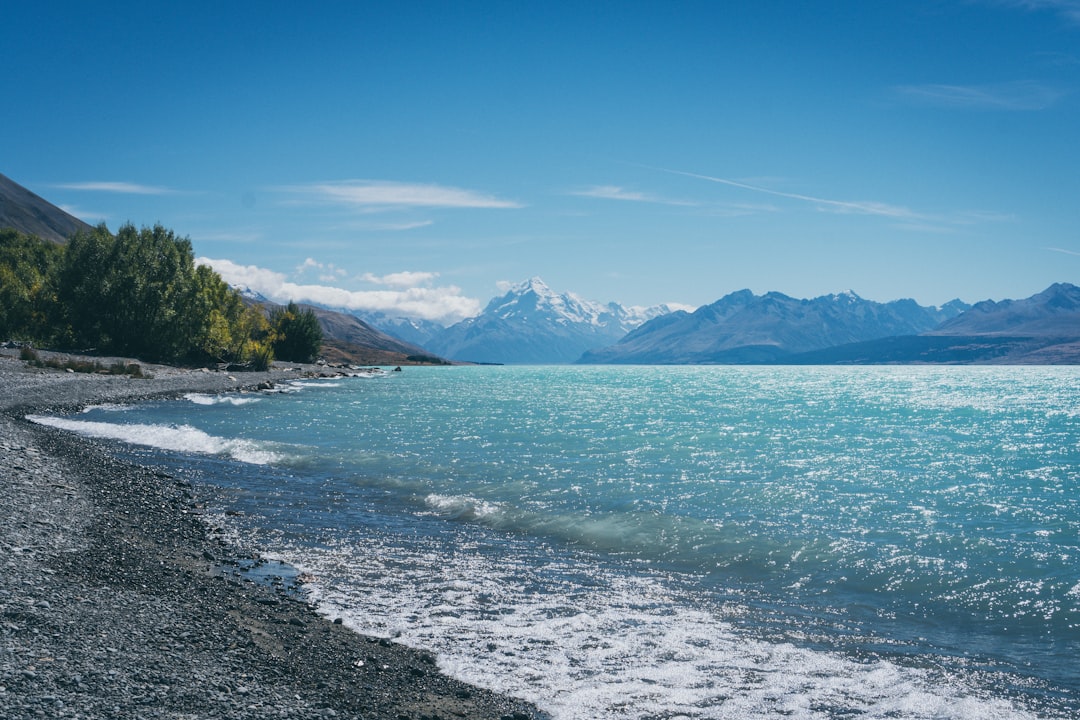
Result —
[[1080, 715], [1080, 370], [454, 367], [42, 419], [556, 718]]

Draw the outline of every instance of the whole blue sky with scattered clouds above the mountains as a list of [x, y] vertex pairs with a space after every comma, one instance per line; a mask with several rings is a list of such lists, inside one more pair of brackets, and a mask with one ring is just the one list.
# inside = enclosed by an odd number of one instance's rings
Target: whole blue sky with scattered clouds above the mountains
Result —
[[45, 0], [0, 54], [0, 173], [297, 299], [1080, 281], [1080, 0]]

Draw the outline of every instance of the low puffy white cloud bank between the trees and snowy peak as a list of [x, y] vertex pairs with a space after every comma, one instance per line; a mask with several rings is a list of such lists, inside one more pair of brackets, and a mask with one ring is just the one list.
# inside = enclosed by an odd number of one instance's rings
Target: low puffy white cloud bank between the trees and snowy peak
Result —
[[454, 285], [347, 290], [332, 285], [301, 285], [291, 282], [284, 273], [258, 266], [243, 266], [232, 260], [197, 258], [195, 262], [212, 267], [230, 285], [248, 287], [274, 302], [285, 303], [295, 300], [348, 310], [378, 310], [392, 315], [421, 317], [444, 324], [456, 323], [481, 311], [480, 300], [462, 296], [461, 288]]

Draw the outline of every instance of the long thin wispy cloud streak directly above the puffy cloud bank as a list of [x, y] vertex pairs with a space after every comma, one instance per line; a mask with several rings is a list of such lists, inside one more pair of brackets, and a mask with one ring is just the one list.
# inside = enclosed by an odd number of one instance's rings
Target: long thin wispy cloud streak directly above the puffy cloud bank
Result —
[[343, 205], [366, 210], [404, 207], [515, 208], [519, 203], [491, 194], [442, 185], [391, 180], [341, 180], [276, 188], [301, 202]]

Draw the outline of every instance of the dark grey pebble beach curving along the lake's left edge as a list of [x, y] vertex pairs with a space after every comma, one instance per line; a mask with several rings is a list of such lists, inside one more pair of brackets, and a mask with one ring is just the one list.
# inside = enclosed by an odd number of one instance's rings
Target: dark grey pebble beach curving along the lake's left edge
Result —
[[545, 717], [245, 579], [256, 558], [220, 540], [198, 487], [25, 420], [300, 377], [146, 369], [153, 379], [83, 376], [0, 355], [5, 718]]

